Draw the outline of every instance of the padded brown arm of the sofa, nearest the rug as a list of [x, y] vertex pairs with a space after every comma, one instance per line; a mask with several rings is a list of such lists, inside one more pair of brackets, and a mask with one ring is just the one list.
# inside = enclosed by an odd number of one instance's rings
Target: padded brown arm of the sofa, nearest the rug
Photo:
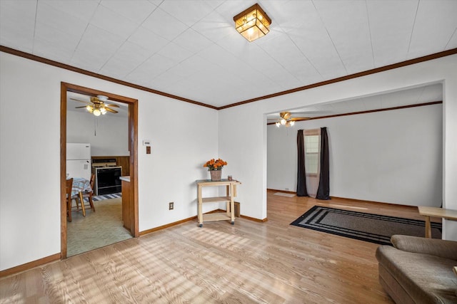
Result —
[[395, 235], [391, 237], [391, 242], [395, 248], [403, 251], [426, 253], [432, 256], [457, 260], [457, 241]]

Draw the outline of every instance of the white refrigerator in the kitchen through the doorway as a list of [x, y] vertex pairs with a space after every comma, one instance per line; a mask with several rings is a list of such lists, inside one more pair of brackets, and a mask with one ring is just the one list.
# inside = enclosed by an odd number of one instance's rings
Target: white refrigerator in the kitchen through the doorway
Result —
[[66, 174], [91, 179], [91, 144], [66, 143]]

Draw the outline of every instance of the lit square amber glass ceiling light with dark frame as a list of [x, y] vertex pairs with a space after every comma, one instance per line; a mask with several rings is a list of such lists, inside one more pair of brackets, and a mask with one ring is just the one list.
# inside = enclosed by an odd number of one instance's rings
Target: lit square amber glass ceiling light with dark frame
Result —
[[258, 4], [234, 16], [233, 21], [236, 31], [249, 42], [265, 36], [270, 31], [271, 19]]

